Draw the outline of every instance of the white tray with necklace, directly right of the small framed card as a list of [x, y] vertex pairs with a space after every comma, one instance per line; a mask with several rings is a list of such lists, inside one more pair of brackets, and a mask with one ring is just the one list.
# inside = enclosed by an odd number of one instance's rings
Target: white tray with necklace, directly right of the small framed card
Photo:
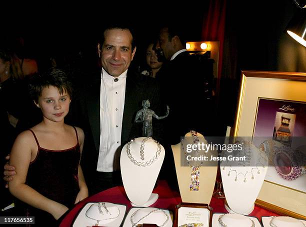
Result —
[[[223, 225], [222, 225], [223, 224]], [[213, 213], [211, 227], [261, 227], [257, 217], [237, 213]]]

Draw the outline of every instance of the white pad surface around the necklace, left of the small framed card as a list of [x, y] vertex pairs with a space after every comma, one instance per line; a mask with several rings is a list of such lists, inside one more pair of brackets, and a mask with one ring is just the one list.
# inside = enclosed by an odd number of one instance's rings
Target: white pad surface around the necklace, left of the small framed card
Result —
[[[143, 210], [139, 210], [143, 209]], [[132, 223], [130, 222], [130, 216], [136, 211], [139, 210], [138, 215], [134, 215], [134, 221], [138, 221], [142, 216], [145, 214], [149, 213], [150, 211], [156, 209], [156, 207], [132, 207], [128, 210], [128, 213], [125, 216], [124, 223], [122, 227], [131, 227]], [[172, 215], [171, 212], [167, 209], [162, 209], [165, 211], [165, 213], [169, 216], [169, 220], [167, 223], [164, 225], [164, 227], [172, 227]], [[164, 221], [166, 220], [166, 217], [163, 212], [152, 212], [150, 215], [147, 217], [143, 218], [140, 220], [137, 224], [142, 224], [142, 223], [147, 223], [147, 224], [157, 224], [160, 226]]]

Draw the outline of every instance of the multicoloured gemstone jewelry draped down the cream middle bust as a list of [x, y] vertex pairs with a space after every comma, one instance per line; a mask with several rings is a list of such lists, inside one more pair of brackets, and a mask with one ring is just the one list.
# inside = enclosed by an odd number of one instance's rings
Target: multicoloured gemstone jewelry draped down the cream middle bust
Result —
[[[198, 136], [197, 136], [197, 132], [191, 130], [190, 133], [191, 133], [192, 138], [193, 138], [193, 144], [195, 144], [196, 142], [199, 141]], [[187, 153], [184, 150], [184, 146], [183, 146], [182, 141], [183, 141], [183, 139], [180, 141], [181, 148], [184, 151], [185, 157], [187, 157]], [[192, 166], [189, 161], [187, 161], [187, 163], [189, 164], [189, 167], [191, 168], [189, 190], [190, 191], [198, 191], [199, 190], [199, 174], [200, 174], [199, 170], [200, 170], [200, 167], [201, 167], [203, 161], [201, 161], [201, 163], [197, 166]]]

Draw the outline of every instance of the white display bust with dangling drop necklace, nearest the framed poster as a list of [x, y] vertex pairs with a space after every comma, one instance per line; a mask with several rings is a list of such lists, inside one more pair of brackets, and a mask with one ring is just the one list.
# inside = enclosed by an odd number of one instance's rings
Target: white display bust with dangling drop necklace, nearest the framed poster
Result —
[[[229, 166], [228, 162], [220, 163], [223, 190], [229, 212], [248, 215], [253, 211], [254, 202], [258, 196], [267, 171], [265, 153], [248, 141], [243, 146], [248, 158], [255, 161], [256, 166]], [[229, 175], [228, 175], [229, 174]]]

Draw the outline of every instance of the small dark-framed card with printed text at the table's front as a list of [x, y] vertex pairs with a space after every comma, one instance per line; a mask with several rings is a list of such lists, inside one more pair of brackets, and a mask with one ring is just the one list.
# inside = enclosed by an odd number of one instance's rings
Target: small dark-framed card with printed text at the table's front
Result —
[[174, 226], [209, 227], [212, 209], [207, 204], [181, 202], [175, 207]]

